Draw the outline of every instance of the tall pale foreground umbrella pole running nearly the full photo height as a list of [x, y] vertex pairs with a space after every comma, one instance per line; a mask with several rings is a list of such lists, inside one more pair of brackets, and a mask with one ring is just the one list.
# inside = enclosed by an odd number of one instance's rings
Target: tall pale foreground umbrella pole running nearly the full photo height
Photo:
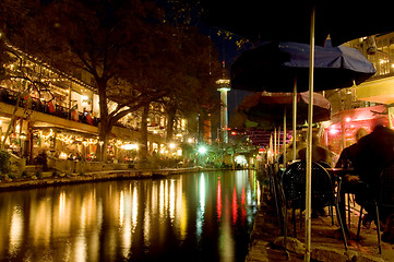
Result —
[[311, 202], [312, 202], [312, 119], [313, 119], [313, 74], [314, 74], [314, 15], [315, 7], [311, 12], [310, 57], [309, 57], [309, 106], [307, 134], [307, 187], [306, 187], [306, 254], [305, 261], [311, 260]]

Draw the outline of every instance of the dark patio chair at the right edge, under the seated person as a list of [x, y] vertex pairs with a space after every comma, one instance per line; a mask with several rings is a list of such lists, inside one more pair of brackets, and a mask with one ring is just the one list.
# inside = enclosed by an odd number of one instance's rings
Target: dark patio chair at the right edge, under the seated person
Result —
[[375, 188], [372, 189], [372, 187], [369, 188], [367, 186], [367, 189], [369, 189], [367, 193], [373, 195], [373, 198], [365, 201], [361, 205], [357, 228], [357, 240], [359, 240], [360, 237], [362, 211], [367, 204], [374, 205], [377, 216], [375, 224], [378, 229], [378, 247], [379, 253], [382, 253], [380, 217], [387, 217], [390, 214], [394, 214], [394, 163], [382, 170]]

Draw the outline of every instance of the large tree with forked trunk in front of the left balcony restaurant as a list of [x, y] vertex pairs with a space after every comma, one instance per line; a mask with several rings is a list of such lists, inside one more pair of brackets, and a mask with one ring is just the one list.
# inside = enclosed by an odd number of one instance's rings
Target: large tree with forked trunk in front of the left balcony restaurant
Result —
[[[26, 0], [25, 2], [28, 2]], [[48, 3], [48, 2], [46, 2]], [[135, 81], [122, 85], [129, 99], [117, 99], [108, 111], [107, 100], [116, 98], [122, 79], [140, 72], [141, 62], [156, 47], [159, 15], [152, 2], [64, 0], [32, 7], [21, 33], [10, 35], [12, 43], [64, 72], [82, 70], [94, 79], [99, 96], [99, 139], [107, 147], [112, 126], [130, 111], [156, 98], [157, 90]], [[124, 83], [124, 82], [123, 82]], [[131, 91], [131, 88], [133, 91]], [[143, 90], [143, 92], [141, 92]], [[139, 92], [140, 91], [140, 92]], [[106, 151], [104, 151], [106, 153]]]

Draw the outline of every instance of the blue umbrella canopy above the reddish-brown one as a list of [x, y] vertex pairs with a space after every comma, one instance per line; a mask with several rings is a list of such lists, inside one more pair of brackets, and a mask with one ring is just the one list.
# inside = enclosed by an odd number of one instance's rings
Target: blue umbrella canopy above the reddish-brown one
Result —
[[[243, 51], [231, 66], [231, 87], [236, 90], [292, 92], [308, 91], [309, 45], [291, 41], [266, 43]], [[360, 84], [375, 73], [373, 64], [354, 48], [317, 46], [314, 49], [314, 91]]]

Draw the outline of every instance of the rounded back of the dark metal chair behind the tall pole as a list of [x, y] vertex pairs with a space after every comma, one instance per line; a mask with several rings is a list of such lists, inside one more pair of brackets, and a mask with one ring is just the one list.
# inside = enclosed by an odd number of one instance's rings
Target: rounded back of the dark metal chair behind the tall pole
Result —
[[[307, 163], [296, 162], [287, 167], [282, 177], [286, 201], [297, 207], [305, 207]], [[318, 163], [312, 164], [312, 206], [326, 206], [333, 203], [334, 190], [330, 174]]]

